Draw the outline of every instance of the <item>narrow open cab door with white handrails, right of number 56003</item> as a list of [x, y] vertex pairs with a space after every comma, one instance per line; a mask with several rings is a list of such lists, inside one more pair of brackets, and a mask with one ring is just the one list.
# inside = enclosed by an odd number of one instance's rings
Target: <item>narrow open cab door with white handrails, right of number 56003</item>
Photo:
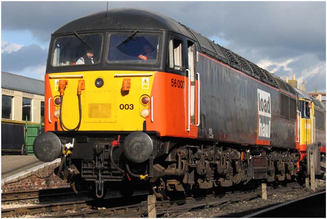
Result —
[[195, 66], [195, 45], [188, 40], [188, 127], [189, 137], [197, 137], [197, 126], [200, 123], [199, 117], [199, 91], [200, 81], [199, 73]]

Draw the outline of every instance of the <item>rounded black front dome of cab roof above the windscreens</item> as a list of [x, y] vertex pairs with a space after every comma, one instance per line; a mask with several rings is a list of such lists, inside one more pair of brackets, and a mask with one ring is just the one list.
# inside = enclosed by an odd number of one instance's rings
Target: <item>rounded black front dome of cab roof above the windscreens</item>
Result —
[[53, 34], [106, 29], [169, 30], [192, 38], [190, 33], [173, 19], [136, 8], [116, 8], [108, 10], [108, 13], [107, 11], [94, 13], [60, 27]]

